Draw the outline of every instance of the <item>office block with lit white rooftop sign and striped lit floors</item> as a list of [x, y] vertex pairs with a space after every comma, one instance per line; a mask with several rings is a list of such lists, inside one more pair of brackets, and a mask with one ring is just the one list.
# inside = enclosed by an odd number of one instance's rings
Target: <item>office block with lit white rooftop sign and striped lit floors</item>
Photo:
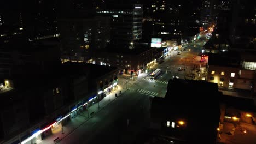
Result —
[[130, 45], [142, 38], [143, 5], [113, 4], [97, 9], [97, 15], [110, 19], [110, 43]]

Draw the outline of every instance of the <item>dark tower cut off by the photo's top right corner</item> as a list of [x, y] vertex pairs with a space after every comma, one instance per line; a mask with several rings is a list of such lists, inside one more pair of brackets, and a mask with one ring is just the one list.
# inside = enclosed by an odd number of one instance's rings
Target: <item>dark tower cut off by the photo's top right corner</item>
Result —
[[234, 0], [229, 39], [234, 45], [256, 48], [256, 9], [253, 1]]

